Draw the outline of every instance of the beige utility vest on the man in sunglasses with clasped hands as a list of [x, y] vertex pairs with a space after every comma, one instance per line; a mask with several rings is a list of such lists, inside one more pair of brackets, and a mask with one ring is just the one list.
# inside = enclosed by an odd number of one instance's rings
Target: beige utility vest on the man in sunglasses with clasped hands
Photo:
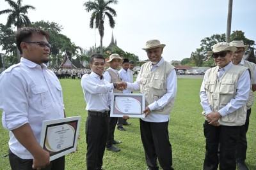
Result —
[[[209, 104], [212, 111], [218, 112], [225, 107], [231, 99], [236, 96], [237, 81], [241, 75], [246, 71], [246, 67], [232, 65], [225, 71], [223, 76], [218, 80], [218, 66], [208, 69], [205, 74], [208, 75], [204, 87], [207, 94]], [[246, 119], [246, 106], [221, 117], [220, 125], [237, 126], [244, 125]]]

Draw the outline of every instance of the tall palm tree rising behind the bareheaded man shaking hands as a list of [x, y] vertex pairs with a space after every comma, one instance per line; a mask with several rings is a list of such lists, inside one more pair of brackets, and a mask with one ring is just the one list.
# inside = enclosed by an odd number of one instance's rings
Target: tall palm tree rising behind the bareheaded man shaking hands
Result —
[[90, 18], [90, 28], [95, 28], [99, 30], [100, 34], [100, 53], [102, 54], [102, 39], [104, 36], [104, 19], [107, 16], [109, 18], [109, 26], [111, 28], [115, 27], [115, 20], [113, 17], [116, 17], [116, 11], [113, 8], [109, 7], [109, 4], [117, 4], [117, 0], [95, 0], [88, 1], [84, 3], [85, 10], [87, 12], [93, 11]]

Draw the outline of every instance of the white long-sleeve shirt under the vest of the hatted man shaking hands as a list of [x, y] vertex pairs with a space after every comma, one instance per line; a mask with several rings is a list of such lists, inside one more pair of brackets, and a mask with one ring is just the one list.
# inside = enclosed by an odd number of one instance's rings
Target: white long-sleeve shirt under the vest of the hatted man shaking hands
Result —
[[[161, 64], [163, 64], [163, 62], [164, 62], [164, 59], [162, 57], [162, 59], [155, 66], [152, 65], [151, 71], [152, 72], [156, 71], [157, 67], [160, 67]], [[136, 81], [134, 81], [134, 83], [127, 83], [127, 89], [130, 89], [132, 91], [140, 90], [140, 73], [138, 74]], [[166, 94], [164, 94], [163, 97], [161, 97], [157, 101], [154, 101], [154, 103], [148, 105], [148, 108], [150, 109], [150, 111], [163, 109], [166, 104], [168, 104], [173, 98], [175, 98], [177, 94], [177, 75], [176, 75], [175, 69], [173, 69], [167, 76], [166, 89], [167, 89], [167, 92]], [[146, 122], [167, 122], [170, 119], [170, 115], [160, 115], [160, 114], [150, 113], [148, 114], [147, 117], [141, 118], [141, 119]]]

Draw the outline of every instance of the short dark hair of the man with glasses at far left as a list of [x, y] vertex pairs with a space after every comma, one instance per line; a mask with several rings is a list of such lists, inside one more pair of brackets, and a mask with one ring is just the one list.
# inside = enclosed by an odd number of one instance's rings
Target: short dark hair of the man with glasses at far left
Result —
[[45, 36], [45, 38], [47, 40], [50, 37], [49, 34], [42, 29], [33, 28], [33, 27], [22, 27], [15, 34], [16, 45], [17, 45], [18, 49], [20, 50], [20, 52], [22, 52], [20, 43], [22, 43], [22, 41], [28, 40], [28, 38], [30, 38], [32, 36], [32, 34], [34, 34], [34, 33], [42, 34], [43, 36]]

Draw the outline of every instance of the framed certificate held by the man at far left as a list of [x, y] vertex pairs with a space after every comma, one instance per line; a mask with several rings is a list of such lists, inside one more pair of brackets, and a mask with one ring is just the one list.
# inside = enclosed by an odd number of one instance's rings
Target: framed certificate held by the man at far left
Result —
[[76, 151], [81, 116], [45, 120], [40, 145], [50, 153], [50, 161]]

